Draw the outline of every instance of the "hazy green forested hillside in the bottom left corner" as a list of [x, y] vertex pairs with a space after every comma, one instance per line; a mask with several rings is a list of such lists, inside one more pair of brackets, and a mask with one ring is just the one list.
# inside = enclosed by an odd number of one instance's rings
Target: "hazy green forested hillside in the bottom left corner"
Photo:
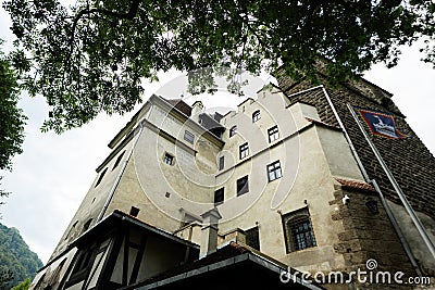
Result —
[[33, 279], [40, 267], [42, 262], [30, 251], [20, 231], [0, 224], [0, 272], [12, 270], [14, 279], [9, 286]]

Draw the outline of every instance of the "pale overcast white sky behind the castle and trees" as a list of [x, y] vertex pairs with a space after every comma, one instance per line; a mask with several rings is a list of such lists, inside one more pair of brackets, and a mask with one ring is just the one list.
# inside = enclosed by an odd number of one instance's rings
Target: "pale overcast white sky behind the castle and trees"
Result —
[[[7, 28], [9, 23], [8, 14], [0, 9], [0, 38], [9, 40], [5, 48], [12, 39]], [[394, 93], [393, 100], [408, 123], [434, 153], [435, 71], [420, 62], [420, 58], [418, 48], [407, 48], [397, 67], [387, 70], [376, 65], [365, 77]], [[162, 76], [160, 84], [147, 87], [145, 97], [159, 89], [164, 92], [167, 84], [179, 75]], [[237, 102], [235, 100], [234, 104]], [[91, 185], [95, 169], [109, 154], [108, 142], [133, 113], [112, 117], [101, 115], [82, 128], [55, 135], [40, 133], [48, 116], [42, 98], [24, 96], [20, 106], [28, 116], [24, 153], [14, 157], [12, 173], [0, 172], [4, 176], [1, 187], [12, 192], [3, 200], [7, 204], [0, 207], [0, 223], [16, 227], [30, 250], [46, 263]]]

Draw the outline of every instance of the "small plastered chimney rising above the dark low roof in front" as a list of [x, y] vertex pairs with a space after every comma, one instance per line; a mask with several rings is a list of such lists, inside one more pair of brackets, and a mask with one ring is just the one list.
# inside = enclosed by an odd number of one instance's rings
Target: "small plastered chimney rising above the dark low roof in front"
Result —
[[217, 222], [222, 218], [216, 207], [201, 214], [201, 244], [200, 257], [204, 257], [217, 248]]

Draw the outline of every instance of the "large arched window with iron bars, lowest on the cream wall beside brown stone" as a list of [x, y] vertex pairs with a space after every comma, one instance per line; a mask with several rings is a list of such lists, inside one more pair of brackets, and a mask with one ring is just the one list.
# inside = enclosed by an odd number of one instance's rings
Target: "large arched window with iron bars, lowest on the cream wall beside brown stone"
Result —
[[316, 245], [308, 209], [283, 215], [287, 253]]

